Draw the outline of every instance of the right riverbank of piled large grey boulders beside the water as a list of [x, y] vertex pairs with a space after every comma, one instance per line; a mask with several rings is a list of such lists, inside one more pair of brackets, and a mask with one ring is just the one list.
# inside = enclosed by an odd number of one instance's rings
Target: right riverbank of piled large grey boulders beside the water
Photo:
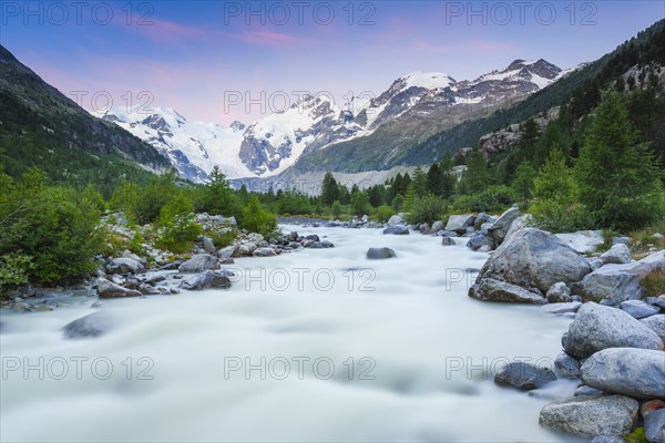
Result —
[[[473, 234], [469, 247], [497, 249], [469, 297], [543, 305], [574, 320], [562, 337], [556, 374], [523, 363], [504, 368], [497, 383], [531, 390], [556, 375], [576, 380], [572, 398], [542, 409], [541, 425], [597, 442], [621, 442], [635, 433], [664, 443], [665, 295], [646, 293], [641, 281], [665, 272], [665, 250], [635, 261], [626, 246], [631, 239], [617, 237], [604, 254], [586, 257], [582, 253], [603, 243], [593, 233], [557, 236], [524, 227], [524, 222], [511, 209]], [[473, 223], [472, 216], [459, 216], [447, 230], [460, 234]]]

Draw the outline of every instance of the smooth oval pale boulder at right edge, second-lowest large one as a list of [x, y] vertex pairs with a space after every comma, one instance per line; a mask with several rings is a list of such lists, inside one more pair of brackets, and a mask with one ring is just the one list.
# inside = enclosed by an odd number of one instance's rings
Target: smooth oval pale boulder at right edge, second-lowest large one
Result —
[[610, 348], [582, 364], [586, 385], [634, 396], [665, 396], [665, 352], [635, 348]]

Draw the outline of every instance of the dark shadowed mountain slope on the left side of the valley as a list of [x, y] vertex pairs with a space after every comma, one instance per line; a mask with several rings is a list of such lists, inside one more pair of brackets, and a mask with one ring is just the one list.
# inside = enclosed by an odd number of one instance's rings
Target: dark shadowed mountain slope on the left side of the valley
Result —
[[95, 119], [0, 45], [0, 159], [19, 175], [31, 166], [51, 179], [101, 187], [161, 172], [170, 162], [121, 127]]

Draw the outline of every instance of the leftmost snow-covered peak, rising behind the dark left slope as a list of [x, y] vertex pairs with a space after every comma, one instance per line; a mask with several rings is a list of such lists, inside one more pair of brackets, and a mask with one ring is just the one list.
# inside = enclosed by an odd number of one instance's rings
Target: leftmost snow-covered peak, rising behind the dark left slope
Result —
[[157, 148], [185, 178], [203, 182], [214, 166], [231, 178], [252, 175], [239, 157], [245, 130], [241, 122], [231, 127], [190, 122], [171, 107], [117, 106], [96, 115]]

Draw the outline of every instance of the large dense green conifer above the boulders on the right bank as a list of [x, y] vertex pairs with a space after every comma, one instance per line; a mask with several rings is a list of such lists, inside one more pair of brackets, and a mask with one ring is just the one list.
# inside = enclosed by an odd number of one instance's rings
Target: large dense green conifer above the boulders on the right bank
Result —
[[662, 173], [637, 136], [624, 96], [604, 92], [575, 166], [580, 200], [600, 226], [636, 228], [664, 213]]

